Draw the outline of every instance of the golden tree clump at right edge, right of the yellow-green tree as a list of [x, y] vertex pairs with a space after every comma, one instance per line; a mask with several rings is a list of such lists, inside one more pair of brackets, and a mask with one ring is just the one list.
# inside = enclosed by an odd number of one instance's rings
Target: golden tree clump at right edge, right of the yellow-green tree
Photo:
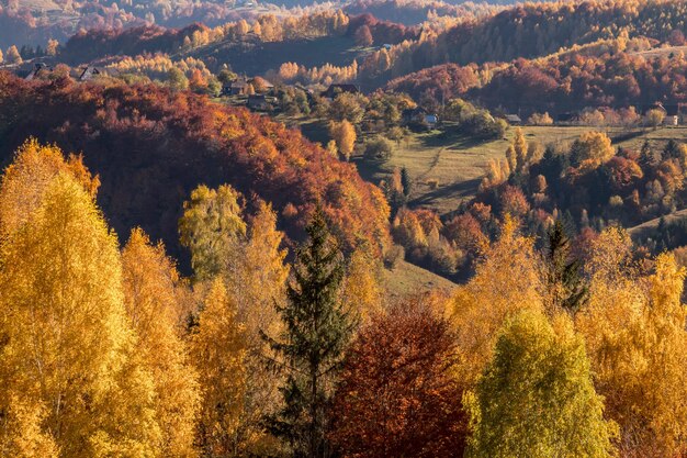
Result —
[[589, 304], [576, 317], [608, 415], [627, 457], [687, 450], [687, 332], [680, 303], [685, 271], [661, 255], [639, 275], [626, 233], [610, 228], [593, 245]]

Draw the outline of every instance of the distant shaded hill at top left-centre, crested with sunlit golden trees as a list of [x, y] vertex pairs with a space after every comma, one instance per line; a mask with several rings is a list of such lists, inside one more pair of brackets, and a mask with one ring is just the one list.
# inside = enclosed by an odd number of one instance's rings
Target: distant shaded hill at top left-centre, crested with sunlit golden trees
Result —
[[[361, 27], [369, 29], [372, 46], [357, 43], [356, 33]], [[340, 10], [286, 19], [268, 14], [250, 26], [238, 21], [214, 29], [194, 23], [183, 29], [145, 25], [80, 32], [69, 38], [58, 58], [78, 65], [109, 56], [162, 53], [174, 60], [201, 59], [213, 71], [227, 65], [236, 72], [263, 75], [285, 63], [306, 68], [348, 66], [382, 44], [398, 44], [417, 35], [416, 27], [370, 14], [348, 16]]]

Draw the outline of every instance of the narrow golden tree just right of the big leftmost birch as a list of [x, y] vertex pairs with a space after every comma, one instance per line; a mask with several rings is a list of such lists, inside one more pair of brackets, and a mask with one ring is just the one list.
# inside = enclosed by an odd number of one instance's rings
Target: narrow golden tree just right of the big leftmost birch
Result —
[[135, 228], [122, 252], [124, 297], [136, 351], [155, 380], [156, 416], [166, 457], [192, 457], [200, 407], [198, 373], [182, 340], [180, 293], [184, 286], [161, 244]]

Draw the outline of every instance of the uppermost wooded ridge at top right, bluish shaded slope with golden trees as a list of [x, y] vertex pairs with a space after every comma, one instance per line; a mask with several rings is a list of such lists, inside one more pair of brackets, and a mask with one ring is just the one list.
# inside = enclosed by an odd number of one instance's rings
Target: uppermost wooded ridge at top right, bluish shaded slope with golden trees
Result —
[[[437, 36], [368, 57], [360, 74], [370, 86], [441, 64], [537, 58], [561, 48], [624, 35], [684, 42], [687, 3], [679, 0], [526, 3], [464, 21]], [[622, 33], [621, 33], [622, 32]]]

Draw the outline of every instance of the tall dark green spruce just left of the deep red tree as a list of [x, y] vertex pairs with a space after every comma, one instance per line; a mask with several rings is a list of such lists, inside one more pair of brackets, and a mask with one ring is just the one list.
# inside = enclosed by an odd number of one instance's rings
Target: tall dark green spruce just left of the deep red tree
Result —
[[339, 289], [345, 273], [341, 253], [322, 210], [307, 226], [308, 242], [296, 253], [288, 302], [278, 306], [284, 324], [280, 339], [264, 337], [284, 372], [283, 407], [268, 420], [296, 458], [333, 455], [327, 442], [327, 411], [354, 322], [344, 310]]

